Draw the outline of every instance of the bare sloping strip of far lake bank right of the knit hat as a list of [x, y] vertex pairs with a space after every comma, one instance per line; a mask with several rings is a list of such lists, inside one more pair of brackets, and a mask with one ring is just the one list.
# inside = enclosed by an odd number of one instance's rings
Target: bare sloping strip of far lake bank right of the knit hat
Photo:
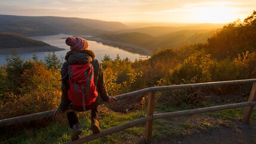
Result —
[[122, 43], [122, 42], [114, 42], [111, 40], [105, 40], [105, 39], [96, 38], [96, 37], [87, 37], [87, 36], [82, 36], [82, 37], [87, 40], [93, 40], [95, 42], [102, 43], [103, 45], [114, 46], [114, 47], [123, 49], [124, 51], [129, 51], [129, 52], [133, 52], [133, 53], [137, 53], [137, 54], [141, 54], [141, 55], [148, 55], [150, 57], [153, 54], [148, 49], [143, 48], [142, 46], [138, 46], [138, 45], [131, 45], [131, 44]]

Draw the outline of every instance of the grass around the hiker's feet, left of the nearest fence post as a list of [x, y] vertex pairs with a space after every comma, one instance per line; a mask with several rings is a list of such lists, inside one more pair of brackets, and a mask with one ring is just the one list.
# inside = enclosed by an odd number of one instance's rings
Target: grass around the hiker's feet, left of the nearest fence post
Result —
[[[108, 111], [102, 112], [104, 118], [100, 120], [101, 129], [108, 129], [110, 127], [118, 126], [132, 120], [143, 117], [144, 110], [131, 112], [129, 114], [118, 114], [117, 112]], [[89, 112], [79, 114], [80, 125], [85, 128], [82, 129], [83, 136], [90, 134], [90, 117]], [[131, 141], [134, 137], [140, 137], [145, 126], [133, 127], [124, 130], [123, 132], [112, 134], [110, 136], [102, 137], [101, 139], [93, 140], [90, 143], [121, 143], [123, 140]], [[15, 133], [9, 137], [7, 135], [0, 136], [0, 143], [63, 143], [71, 138], [71, 130], [68, 127], [67, 120], [64, 118], [57, 118], [48, 126], [40, 129], [25, 129]]]

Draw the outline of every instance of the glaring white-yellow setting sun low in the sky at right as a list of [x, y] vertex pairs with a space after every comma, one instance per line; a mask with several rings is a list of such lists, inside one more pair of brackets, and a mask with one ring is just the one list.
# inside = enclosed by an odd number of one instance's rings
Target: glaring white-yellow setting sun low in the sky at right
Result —
[[232, 8], [221, 5], [218, 7], [198, 8], [195, 11], [195, 18], [199, 23], [229, 23], [238, 18], [236, 15]]

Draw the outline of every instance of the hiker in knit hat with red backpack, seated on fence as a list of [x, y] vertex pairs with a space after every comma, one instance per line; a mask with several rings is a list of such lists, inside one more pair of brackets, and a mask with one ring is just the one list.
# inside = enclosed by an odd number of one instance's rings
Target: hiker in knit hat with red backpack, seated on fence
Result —
[[[65, 55], [61, 68], [61, 104], [54, 115], [71, 108], [74, 111], [91, 111], [93, 133], [99, 133], [99, 104], [102, 100], [114, 102], [104, 84], [101, 63], [95, 59], [93, 51], [88, 49], [88, 42], [81, 37], [67, 37], [65, 43], [70, 50]], [[76, 112], [67, 112], [68, 124], [72, 130], [71, 140], [79, 139], [82, 131]]]

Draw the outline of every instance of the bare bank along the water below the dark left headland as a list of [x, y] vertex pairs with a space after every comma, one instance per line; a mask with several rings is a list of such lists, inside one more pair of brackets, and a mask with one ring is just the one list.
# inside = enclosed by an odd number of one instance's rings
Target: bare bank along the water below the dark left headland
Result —
[[21, 48], [2, 48], [0, 49], [0, 55], [13, 54], [13, 53], [27, 53], [27, 52], [57, 52], [64, 51], [63, 48], [58, 48], [56, 46], [46, 45], [46, 46], [30, 46]]

